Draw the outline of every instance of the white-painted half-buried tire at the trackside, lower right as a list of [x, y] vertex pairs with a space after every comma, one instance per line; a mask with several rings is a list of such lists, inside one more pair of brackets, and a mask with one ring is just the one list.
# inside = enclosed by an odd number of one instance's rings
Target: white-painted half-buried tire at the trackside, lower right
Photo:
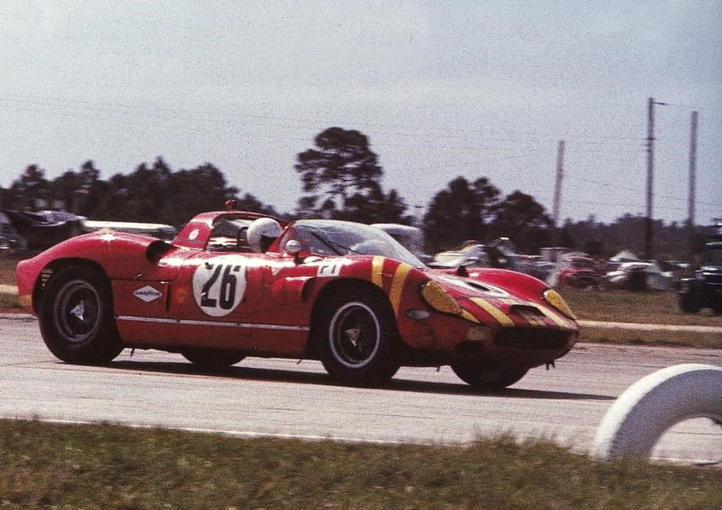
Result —
[[597, 428], [592, 454], [648, 457], [672, 426], [692, 418], [722, 424], [722, 368], [689, 363], [643, 377], [614, 401]]

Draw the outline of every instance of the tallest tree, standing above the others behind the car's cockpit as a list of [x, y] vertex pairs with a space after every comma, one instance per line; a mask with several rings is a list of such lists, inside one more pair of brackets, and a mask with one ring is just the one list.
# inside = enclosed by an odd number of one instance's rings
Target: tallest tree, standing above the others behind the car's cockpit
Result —
[[300, 212], [347, 217], [363, 199], [373, 202], [383, 170], [366, 135], [331, 127], [318, 134], [314, 142], [317, 148], [300, 152], [294, 165], [305, 193], [298, 202]]

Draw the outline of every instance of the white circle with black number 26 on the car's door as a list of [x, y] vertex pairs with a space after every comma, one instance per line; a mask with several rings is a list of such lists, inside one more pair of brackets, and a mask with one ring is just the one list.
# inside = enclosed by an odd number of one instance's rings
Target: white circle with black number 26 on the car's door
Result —
[[214, 257], [201, 262], [193, 273], [193, 298], [204, 314], [230, 314], [245, 293], [245, 266], [238, 259]]

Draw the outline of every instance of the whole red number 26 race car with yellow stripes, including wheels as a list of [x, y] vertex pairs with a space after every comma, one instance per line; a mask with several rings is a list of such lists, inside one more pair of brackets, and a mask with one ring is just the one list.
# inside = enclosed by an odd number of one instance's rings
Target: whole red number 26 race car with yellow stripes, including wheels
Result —
[[350, 384], [451, 365], [490, 389], [554, 363], [578, 337], [561, 296], [533, 277], [428, 269], [382, 230], [334, 220], [223, 211], [172, 242], [90, 233], [20, 262], [17, 282], [66, 363], [108, 363], [126, 347], [204, 367], [310, 358]]

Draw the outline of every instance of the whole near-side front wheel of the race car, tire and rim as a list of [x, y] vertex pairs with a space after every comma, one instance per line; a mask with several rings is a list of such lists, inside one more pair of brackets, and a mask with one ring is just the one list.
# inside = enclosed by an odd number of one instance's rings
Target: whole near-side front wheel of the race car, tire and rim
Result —
[[331, 377], [361, 386], [391, 379], [401, 366], [401, 341], [386, 296], [347, 289], [324, 305], [316, 342]]

